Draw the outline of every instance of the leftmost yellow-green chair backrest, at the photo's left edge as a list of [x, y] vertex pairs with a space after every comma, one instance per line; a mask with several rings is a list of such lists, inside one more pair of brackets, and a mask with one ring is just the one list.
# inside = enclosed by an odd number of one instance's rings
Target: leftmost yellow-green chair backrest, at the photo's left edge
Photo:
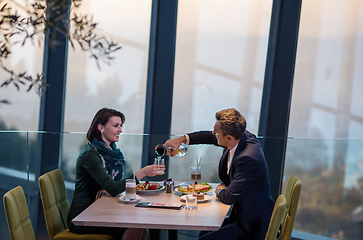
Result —
[[18, 186], [5, 193], [4, 208], [11, 240], [35, 240], [22, 187]]

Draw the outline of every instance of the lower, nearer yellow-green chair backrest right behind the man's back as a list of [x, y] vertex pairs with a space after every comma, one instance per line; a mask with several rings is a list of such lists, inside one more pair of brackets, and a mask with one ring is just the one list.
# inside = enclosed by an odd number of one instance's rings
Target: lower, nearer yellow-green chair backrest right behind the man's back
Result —
[[281, 194], [275, 202], [275, 206], [272, 211], [270, 224], [268, 226], [265, 240], [278, 239], [277, 236], [280, 235], [279, 230], [281, 230], [280, 229], [281, 221], [285, 215], [285, 212], [286, 212], [286, 199], [284, 195]]

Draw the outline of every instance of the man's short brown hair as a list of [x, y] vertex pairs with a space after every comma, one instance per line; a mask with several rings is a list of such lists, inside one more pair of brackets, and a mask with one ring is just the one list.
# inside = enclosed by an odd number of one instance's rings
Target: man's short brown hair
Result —
[[216, 119], [221, 123], [221, 130], [224, 135], [241, 139], [247, 123], [240, 112], [234, 108], [224, 109], [216, 113]]

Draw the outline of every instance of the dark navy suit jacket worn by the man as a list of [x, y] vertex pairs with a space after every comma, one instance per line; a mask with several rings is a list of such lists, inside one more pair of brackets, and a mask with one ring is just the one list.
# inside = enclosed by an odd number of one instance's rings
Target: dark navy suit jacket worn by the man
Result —
[[[217, 138], [210, 131], [188, 134], [189, 144], [214, 144]], [[263, 240], [270, 222], [273, 200], [267, 164], [256, 136], [246, 131], [234, 153], [227, 174], [228, 148], [224, 147], [219, 161], [219, 178], [227, 186], [219, 199], [233, 206], [232, 216], [245, 236], [241, 239]]]

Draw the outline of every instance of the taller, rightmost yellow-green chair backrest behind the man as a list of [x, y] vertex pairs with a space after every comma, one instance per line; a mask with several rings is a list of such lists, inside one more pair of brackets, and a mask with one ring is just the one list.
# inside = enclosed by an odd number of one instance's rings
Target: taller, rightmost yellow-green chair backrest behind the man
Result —
[[281, 240], [290, 240], [292, 227], [294, 225], [297, 205], [299, 202], [300, 192], [301, 192], [301, 180], [291, 175], [285, 190], [286, 198], [286, 214], [281, 224]]

